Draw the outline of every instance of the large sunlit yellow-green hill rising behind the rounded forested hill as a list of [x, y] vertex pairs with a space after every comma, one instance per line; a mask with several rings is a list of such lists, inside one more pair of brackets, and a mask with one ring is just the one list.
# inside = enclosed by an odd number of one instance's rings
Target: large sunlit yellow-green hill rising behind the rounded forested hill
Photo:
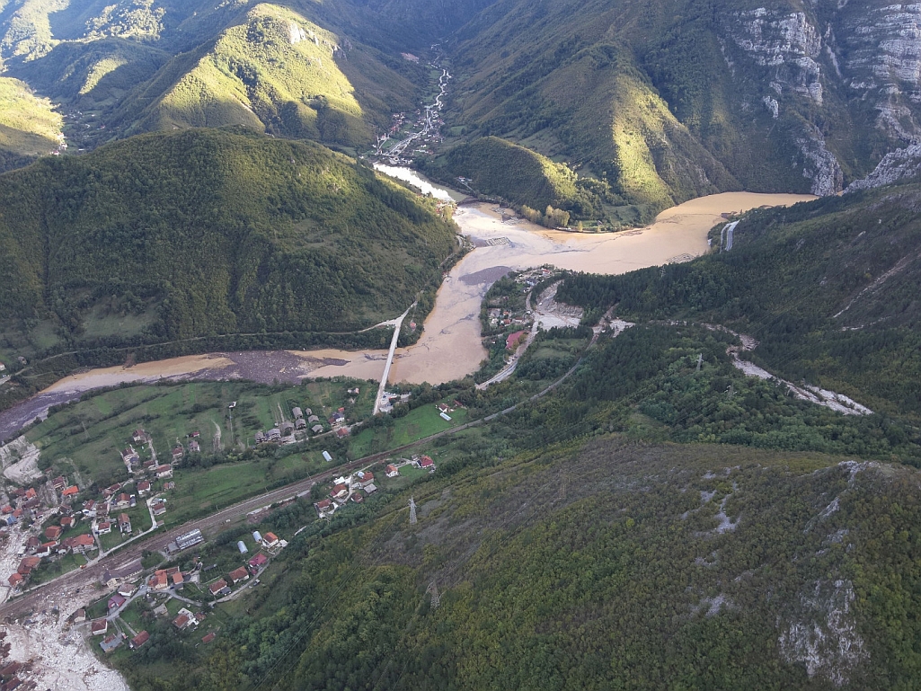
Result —
[[[142, 126], [247, 124], [278, 135], [367, 143], [368, 121], [389, 113], [373, 98], [363, 108], [346, 74], [355, 71], [349, 66], [353, 51], [350, 41], [289, 10], [258, 6], [245, 24], [221, 34], [160, 98]], [[399, 86], [413, 91], [408, 82]]]

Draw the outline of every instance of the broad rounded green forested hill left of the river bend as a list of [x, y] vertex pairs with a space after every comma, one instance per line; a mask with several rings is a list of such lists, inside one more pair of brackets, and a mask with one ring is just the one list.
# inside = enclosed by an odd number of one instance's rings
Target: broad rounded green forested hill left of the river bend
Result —
[[245, 130], [43, 159], [0, 177], [0, 200], [5, 324], [69, 345], [352, 331], [437, 285], [454, 244], [353, 159]]

